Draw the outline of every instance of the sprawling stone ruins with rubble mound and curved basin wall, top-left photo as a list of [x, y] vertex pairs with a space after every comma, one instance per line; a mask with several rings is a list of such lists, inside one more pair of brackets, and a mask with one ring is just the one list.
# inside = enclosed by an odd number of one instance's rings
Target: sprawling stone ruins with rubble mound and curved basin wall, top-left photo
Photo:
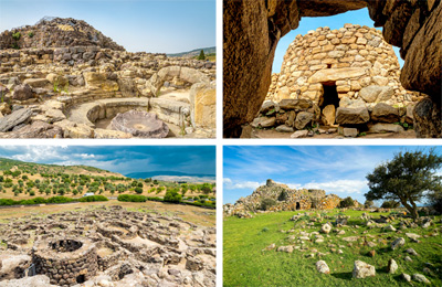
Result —
[[213, 62], [129, 53], [73, 19], [14, 31], [19, 50], [0, 34], [1, 138], [130, 138], [106, 121], [133, 109], [157, 114], [169, 136], [214, 137]]

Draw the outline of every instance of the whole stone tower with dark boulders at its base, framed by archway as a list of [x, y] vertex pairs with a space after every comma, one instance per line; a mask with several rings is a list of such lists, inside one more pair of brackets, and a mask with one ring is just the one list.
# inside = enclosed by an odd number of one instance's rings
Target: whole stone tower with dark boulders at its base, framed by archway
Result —
[[413, 125], [414, 105], [425, 96], [406, 91], [399, 77], [398, 59], [380, 31], [318, 28], [290, 44], [251, 125], [282, 132], [339, 126], [339, 134], [351, 137], [400, 132], [404, 129], [392, 124]]

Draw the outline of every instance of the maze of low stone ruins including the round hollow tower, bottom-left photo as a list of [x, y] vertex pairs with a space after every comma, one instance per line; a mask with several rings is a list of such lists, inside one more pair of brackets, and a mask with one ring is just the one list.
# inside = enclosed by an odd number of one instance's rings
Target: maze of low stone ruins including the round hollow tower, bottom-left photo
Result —
[[1, 286], [215, 286], [215, 228], [177, 216], [103, 206], [0, 228]]

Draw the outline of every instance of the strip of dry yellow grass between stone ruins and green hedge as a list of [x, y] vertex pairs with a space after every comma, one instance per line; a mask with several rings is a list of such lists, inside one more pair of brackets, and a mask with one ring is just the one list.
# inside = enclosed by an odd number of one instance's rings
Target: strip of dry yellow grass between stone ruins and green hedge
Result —
[[122, 205], [129, 211], [157, 212], [170, 216], [179, 216], [185, 221], [192, 222], [197, 225], [215, 226], [215, 211], [207, 210], [191, 205], [170, 204], [162, 202], [118, 202], [110, 200], [106, 202], [84, 202], [67, 203], [43, 206], [20, 206], [0, 209], [0, 222], [8, 223], [9, 219], [32, 216], [45, 216], [53, 213], [80, 211], [86, 209], [95, 209], [99, 206]]

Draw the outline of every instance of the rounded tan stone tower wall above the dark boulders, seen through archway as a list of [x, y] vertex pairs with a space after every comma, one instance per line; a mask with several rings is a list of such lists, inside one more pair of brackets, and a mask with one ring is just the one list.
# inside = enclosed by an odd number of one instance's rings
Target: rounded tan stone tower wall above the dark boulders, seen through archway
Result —
[[[304, 98], [320, 107], [347, 97], [368, 105], [407, 106], [419, 93], [406, 91], [399, 76], [398, 59], [380, 31], [357, 24], [339, 30], [318, 28], [290, 44], [281, 73], [272, 76], [266, 99]], [[385, 93], [360, 93], [368, 86], [383, 87]], [[328, 93], [336, 99], [327, 99]]]

